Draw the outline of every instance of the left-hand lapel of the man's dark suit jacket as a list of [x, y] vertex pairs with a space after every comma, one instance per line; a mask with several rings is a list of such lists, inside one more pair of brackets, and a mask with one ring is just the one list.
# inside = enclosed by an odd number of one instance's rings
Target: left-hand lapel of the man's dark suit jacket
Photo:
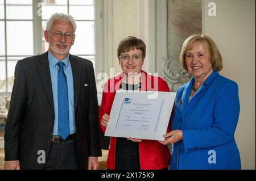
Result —
[[41, 59], [39, 60], [38, 71], [39, 71], [40, 78], [41, 78], [41, 81], [44, 86], [44, 90], [46, 91], [46, 95], [49, 100], [49, 104], [51, 105], [52, 111], [54, 112], [51, 73], [49, 71], [48, 52], [42, 54]]

